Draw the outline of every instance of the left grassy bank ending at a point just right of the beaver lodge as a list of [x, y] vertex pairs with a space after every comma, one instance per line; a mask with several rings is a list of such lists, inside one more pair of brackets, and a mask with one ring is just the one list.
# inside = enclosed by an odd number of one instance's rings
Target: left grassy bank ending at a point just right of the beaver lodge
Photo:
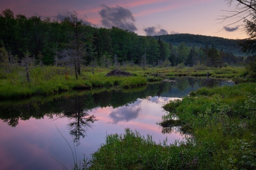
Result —
[[[144, 76], [130, 77], [106, 77], [109, 70], [95, 69], [82, 70], [82, 74], [76, 79], [70, 68], [64, 67], [38, 67], [29, 71], [31, 81], [28, 82], [24, 69], [15, 67], [8, 74], [1, 72], [0, 98], [20, 98], [32, 95], [49, 95], [56, 92], [72, 89], [91, 89], [92, 87], [130, 88], [147, 84]], [[65, 74], [66, 73], [66, 74]]]

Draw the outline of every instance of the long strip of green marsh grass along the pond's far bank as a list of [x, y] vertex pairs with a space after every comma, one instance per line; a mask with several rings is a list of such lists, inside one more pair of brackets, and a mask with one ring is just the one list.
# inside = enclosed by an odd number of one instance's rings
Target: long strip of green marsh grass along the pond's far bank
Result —
[[[167, 67], [147, 68], [121, 67], [134, 74], [130, 77], [106, 77], [111, 69], [82, 67], [78, 80], [73, 69], [67, 67], [44, 66], [29, 70], [30, 82], [27, 81], [26, 71], [19, 66], [9, 66], [0, 69], [0, 98], [20, 98], [32, 95], [49, 95], [72, 89], [90, 89], [93, 87], [131, 88], [146, 85], [148, 82], [161, 81], [166, 76], [203, 76], [210, 71], [211, 77], [232, 77], [243, 72], [242, 67], [209, 68], [197, 67]], [[216, 76], [217, 75], [217, 76]]]

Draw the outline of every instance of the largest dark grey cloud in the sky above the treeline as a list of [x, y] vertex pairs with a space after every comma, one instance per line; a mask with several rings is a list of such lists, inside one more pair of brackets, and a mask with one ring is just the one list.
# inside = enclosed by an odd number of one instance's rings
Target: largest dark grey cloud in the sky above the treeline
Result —
[[130, 10], [124, 9], [120, 6], [113, 8], [110, 8], [104, 4], [101, 6], [103, 8], [99, 11], [99, 14], [101, 16], [101, 23], [103, 26], [108, 28], [117, 26], [118, 28], [128, 29], [130, 31], [137, 30], [136, 26], [134, 25], [135, 19]]

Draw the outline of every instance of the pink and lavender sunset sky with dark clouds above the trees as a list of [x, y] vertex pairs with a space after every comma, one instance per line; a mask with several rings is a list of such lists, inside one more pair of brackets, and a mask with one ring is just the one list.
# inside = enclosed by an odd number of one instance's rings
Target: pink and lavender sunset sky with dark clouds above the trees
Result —
[[[224, 22], [234, 5], [225, 0], [0, 0], [0, 11], [10, 8], [14, 15], [33, 15], [61, 21], [78, 13], [77, 17], [96, 27], [117, 26], [138, 35], [190, 33], [244, 39], [242, 23], [237, 18]], [[224, 10], [224, 11], [223, 11]], [[220, 23], [221, 22], [221, 23]]]

